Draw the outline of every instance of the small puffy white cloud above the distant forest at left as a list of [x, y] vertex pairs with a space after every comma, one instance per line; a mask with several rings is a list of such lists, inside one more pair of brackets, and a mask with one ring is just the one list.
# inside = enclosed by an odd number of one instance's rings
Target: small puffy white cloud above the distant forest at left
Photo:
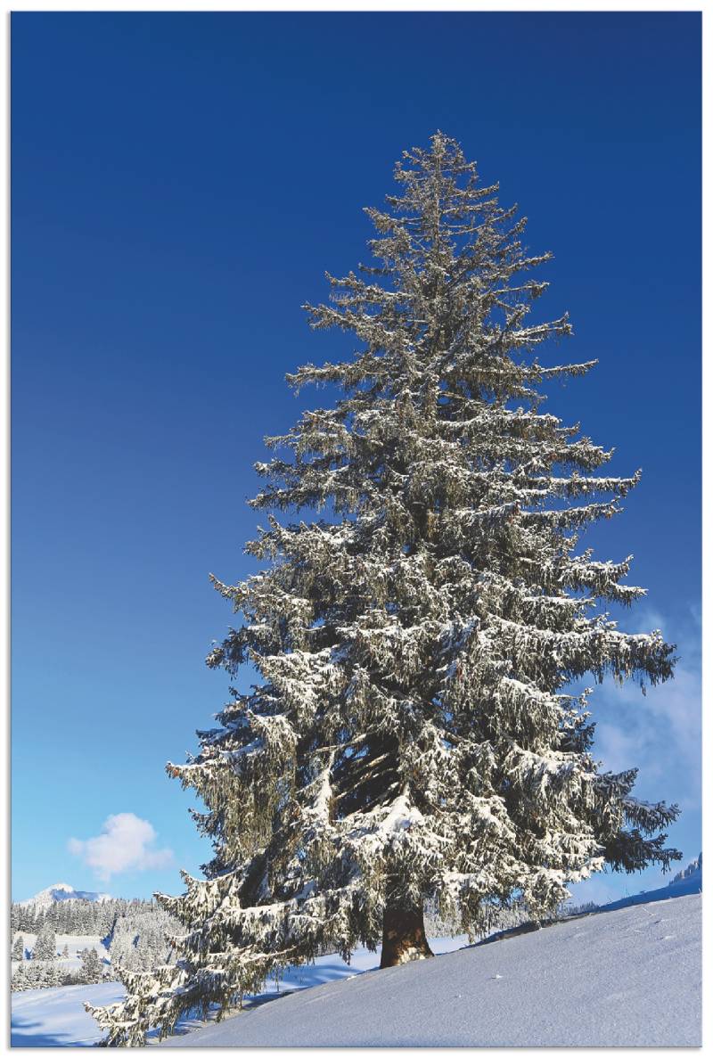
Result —
[[173, 853], [170, 849], [154, 849], [156, 838], [148, 820], [122, 811], [108, 816], [95, 838], [84, 841], [70, 838], [68, 849], [74, 856], [80, 856], [103, 881], [108, 881], [113, 874], [126, 871], [170, 867]]

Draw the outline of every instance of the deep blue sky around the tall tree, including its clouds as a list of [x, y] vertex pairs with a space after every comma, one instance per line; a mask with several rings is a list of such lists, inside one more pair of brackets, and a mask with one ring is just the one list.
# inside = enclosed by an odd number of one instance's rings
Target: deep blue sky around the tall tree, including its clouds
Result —
[[566, 355], [599, 358], [547, 411], [643, 468], [587, 542], [634, 552], [650, 595], [622, 626], [681, 660], [645, 698], [597, 689], [597, 750], [682, 805], [671, 838], [698, 853], [699, 34], [685, 13], [12, 16], [16, 899], [178, 892], [209, 858], [163, 770], [227, 698], [207, 574], [253, 568], [261, 438], [319, 400], [285, 372], [348, 348], [299, 306], [365, 259], [362, 206], [437, 128], [554, 252]]

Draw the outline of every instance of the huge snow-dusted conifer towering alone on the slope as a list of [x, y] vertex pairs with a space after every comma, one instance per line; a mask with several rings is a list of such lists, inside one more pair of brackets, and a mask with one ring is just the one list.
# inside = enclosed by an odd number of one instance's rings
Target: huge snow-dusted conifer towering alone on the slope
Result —
[[325, 949], [425, 957], [424, 900], [478, 935], [515, 901], [553, 913], [605, 864], [679, 856], [660, 833], [678, 809], [637, 800], [635, 768], [600, 770], [589, 692], [568, 690], [643, 688], [674, 658], [606, 610], [645, 594], [630, 558], [578, 548], [639, 474], [599, 474], [611, 452], [542, 411], [543, 382], [595, 364], [537, 357], [571, 329], [528, 322], [550, 254], [441, 133], [396, 180], [366, 211], [374, 264], [307, 306], [360, 349], [288, 376], [339, 397], [269, 439], [253, 506], [270, 513], [246, 548], [263, 567], [215, 582], [243, 621], [208, 664], [259, 677], [168, 766], [215, 857], [158, 896], [187, 932], [176, 965], [123, 973], [126, 1000], [93, 1011], [109, 1043], [222, 1013]]

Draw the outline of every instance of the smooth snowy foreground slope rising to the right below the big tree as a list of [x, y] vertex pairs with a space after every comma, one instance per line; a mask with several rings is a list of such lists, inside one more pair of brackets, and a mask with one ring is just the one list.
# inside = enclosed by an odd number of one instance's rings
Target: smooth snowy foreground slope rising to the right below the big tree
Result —
[[697, 896], [267, 1001], [164, 1046], [699, 1046]]

